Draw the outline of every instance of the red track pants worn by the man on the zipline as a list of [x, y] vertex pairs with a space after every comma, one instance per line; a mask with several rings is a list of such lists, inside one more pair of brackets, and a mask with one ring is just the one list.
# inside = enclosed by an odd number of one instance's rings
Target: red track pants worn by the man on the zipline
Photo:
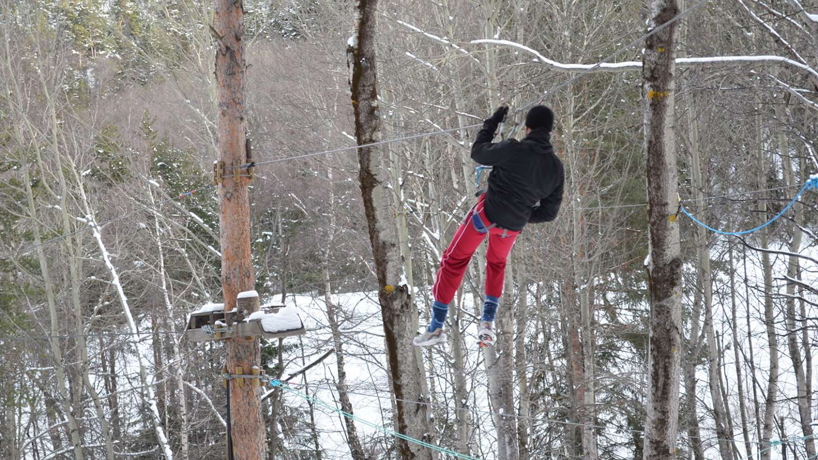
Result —
[[[508, 259], [511, 247], [517, 239], [519, 232], [511, 232], [497, 227], [488, 228], [492, 223], [486, 219], [483, 210], [483, 201], [486, 195], [480, 196], [479, 201], [469, 211], [460, 228], [457, 228], [452, 243], [443, 252], [440, 260], [440, 271], [438, 278], [434, 282], [434, 300], [443, 304], [451, 304], [457, 288], [463, 281], [465, 269], [468, 268], [471, 256], [477, 250], [477, 246], [488, 234], [488, 250], [486, 250], [486, 294], [500, 297], [503, 293], [503, 281], [506, 278], [506, 260]], [[474, 222], [474, 214], [479, 216], [479, 221]], [[483, 223], [483, 232], [479, 232], [475, 225]]]

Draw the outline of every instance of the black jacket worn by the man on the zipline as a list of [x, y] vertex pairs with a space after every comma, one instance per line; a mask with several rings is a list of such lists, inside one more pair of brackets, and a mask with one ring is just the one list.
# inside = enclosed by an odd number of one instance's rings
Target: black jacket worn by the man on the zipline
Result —
[[486, 217], [512, 232], [519, 232], [526, 223], [556, 219], [565, 173], [551, 147], [550, 133], [537, 128], [521, 141], [508, 139], [492, 144], [496, 129], [497, 124], [486, 120], [471, 147], [472, 160], [493, 167], [488, 176]]

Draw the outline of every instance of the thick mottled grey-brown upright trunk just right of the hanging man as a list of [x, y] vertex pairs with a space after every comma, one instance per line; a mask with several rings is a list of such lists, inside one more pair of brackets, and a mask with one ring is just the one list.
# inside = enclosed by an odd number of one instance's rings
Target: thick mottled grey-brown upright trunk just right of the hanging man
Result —
[[[674, 0], [651, 2], [648, 30], [672, 20]], [[676, 23], [647, 38], [643, 60], [650, 294], [645, 460], [676, 456], [681, 367], [681, 248], [673, 141]]]

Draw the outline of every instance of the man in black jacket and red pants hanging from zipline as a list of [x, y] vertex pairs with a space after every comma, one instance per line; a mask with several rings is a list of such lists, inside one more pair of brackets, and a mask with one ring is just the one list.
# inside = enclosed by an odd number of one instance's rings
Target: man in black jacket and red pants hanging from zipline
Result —
[[554, 112], [546, 106], [534, 106], [525, 117], [522, 140], [492, 143], [494, 132], [506, 119], [508, 110], [506, 106], [497, 109], [483, 122], [483, 129], [474, 139], [471, 159], [492, 166], [488, 189], [443, 252], [432, 291], [432, 320], [423, 334], [413, 340], [417, 346], [446, 343], [443, 323], [449, 304], [460, 287], [471, 256], [487, 234], [486, 300], [477, 336], [480, 346], [492, 346], [494, 315], [503, 292], [506, 260], [517, 235], [526, 223], [551, 222], [560, 211], [565, 174], [562, 161], [551, 147]]

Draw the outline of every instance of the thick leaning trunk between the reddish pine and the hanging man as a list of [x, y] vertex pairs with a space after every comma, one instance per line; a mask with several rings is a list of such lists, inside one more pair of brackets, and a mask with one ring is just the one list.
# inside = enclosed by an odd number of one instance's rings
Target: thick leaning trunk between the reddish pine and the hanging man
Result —
[[[355, 114], [358, 146], [380, 141], [380, 106], [375, 72], [375, 14], [377, 0], [359, 0], [355, 5], [355, 29], [347, 48], [351, 70], [350, 89]], [[384, 171], [383, 147], [359, 147], [358, 178], [366, 223], [378, 278], [378, 300], [384, 322], [389, 373], [395, 397], [395, 430], [416, 440], [429, 439], [430, 422], [421, 390], [424, 369], [418, 366], [417, 350], [411, 343], [416, 309], [411, 300], [400, 259], [393, 218], [393, 192]], [[418, 401], [418, 403], [407, 402]], [[432, 453], [406, 440], [396, 440], [402, 460], [431, 459]]]

